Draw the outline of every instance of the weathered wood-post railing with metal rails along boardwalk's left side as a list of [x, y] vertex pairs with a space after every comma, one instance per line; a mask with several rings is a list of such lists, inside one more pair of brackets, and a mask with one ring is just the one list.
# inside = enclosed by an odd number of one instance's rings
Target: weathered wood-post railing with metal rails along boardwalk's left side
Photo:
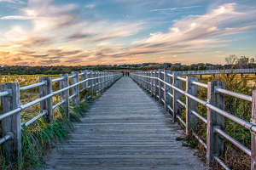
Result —
[[[81, 81], [79, 81], [79, 76]], [[21, 158], [21, 129], [27, 127], [32, 122], [37, 121], [40, 117], [51, 123], [53, 120], [53, 110], [59, 105], [63, 105], [64, 111], [69, 118], [69, 100], [72, 99], [72, 105], [79, 105], [79, 85], [82, 90], [89, 88], [90, 91], [101, 92], [116, 82], [121, 73], [99, 72], [99, 71], [72, 71], [71, 76], [60, 74], [60, 78], [52, 80], [51, 77], [39, 77], [39, 83], [20, 88], [19, 83], [1, 84], [1, 103], [3, 105], [2, 131], [3, 138], [0, 144], [3, 144], [3, 153], [8, 157], [10, 162], [15, 162]], [[69, 78], [72, 79], [72, 85], [69, 85]], [[52, 91], [52, 82], [60, 82], [60, 90]], [[20, 90], [39, 87], [39, 99], [33, 100], [26, 105], [20, 105]], [[69, 96], [69, 89], [72, 88], [72, 95]], [[53, 105], [52, 97], [60, 94], [61, 102]], [[40, 103], [40, 114], [29, 122], [21, 125], [20, 113], [26, 108]]]

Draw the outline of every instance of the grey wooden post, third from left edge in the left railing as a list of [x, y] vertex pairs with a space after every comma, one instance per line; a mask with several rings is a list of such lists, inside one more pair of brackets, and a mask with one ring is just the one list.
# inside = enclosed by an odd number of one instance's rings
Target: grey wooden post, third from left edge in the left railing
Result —
[[[64, 80], [60, 81], [60, 89], [69, 87], [68, 74], [60, 74], [60, 77], [64, 77]], [[63, 105], [64, 111], [66, 113], [66, 116], [69, 119], [70, 118], [70, 114], [69, 114], [69, 89], [60, 93], [60, 99], [65, 100], [65, 102], [62, 105]]]

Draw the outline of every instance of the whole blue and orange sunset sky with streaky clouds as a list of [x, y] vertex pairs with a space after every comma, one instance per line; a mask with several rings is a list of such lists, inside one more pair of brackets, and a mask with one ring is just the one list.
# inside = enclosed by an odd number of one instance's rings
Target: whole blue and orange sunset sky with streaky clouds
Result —
[[0, 0], [0, 65], [256, 57], [255, 0]]

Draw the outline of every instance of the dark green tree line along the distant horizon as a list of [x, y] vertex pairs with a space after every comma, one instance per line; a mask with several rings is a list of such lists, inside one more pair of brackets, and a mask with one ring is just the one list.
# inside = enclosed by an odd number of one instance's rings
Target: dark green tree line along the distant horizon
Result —
[[255, 59], [249, 59], [245, 56], [238, 58], [231, 54], [225, 58], [227, 65], [213, 65], [209, 63], [198, 63], [193, 65], [182, 65], [181, 63], [143, 63], [132, 65], [51, 65], [51, 66], [28, 66], [28, 65], [2, 65], [0, 67], [1, 75], [35, 75], [46, 74], [56, 75], [71, 71], [92, 70], [92, 71], [113, 71], [113, 70], [155, 70], [168, 69], [172, 71], [204, 71], [204, 70], [223, 70], [230, 69], [247, 69], [255, 67]]

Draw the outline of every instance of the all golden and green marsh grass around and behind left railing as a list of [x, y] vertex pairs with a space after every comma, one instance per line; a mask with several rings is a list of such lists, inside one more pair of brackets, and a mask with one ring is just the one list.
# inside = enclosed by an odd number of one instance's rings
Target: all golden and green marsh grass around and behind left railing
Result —
[[[33, 77], [1, 77], [1, 83], [20, 83], [20, 87], [35, 84], [39, 82], [38, 76]], [[53, 82], [53, 91], [59, 89], [59, 82]], [[20, 91], [21, 105], [38, 99], [39, 88], [32, 88], [26, 91]], [[70, 90], [71, 91], [71, 90]], [[89, 94], [95, 94], [88, 89], [80, 92], [80, 99]], [[53, 105], [61, 101], [59, 95], [53, 97]], [[70, 102], [71, 103], [71, 102]], [[2, 105], [0, 109], [2, 108]], [[68, 139], [68, 132], [73, 131], [73, 122], [81, 122], [81, 118], [86, 116], [90, 106], [84, 102], [79, 105], [70, 105], [70, 119], [67, 118], [63, 107], [59, 106], [53, 111], [53, 122], [48, 124], [44, 117], [33, 122], [28, 127], [22, 127], [22, 159], [15, 164], [9, 164], [9, 160], [3, 156], [2, 144], [0, 145], [0, 168], [1, 169], [31, 169], [33, 167], [44, 168], [45, 151], [58, 142], [64, 142]], [[0, 110], [2, 111], [2, 109]], [[21, 113], [21, 123], [31, 120], [40, 114], [40, 105], [32, 105]], [[0, 123], [1, 125], [1, 123]], [[2, 136], [2, 126], [0, 126], [0, 137]]]

